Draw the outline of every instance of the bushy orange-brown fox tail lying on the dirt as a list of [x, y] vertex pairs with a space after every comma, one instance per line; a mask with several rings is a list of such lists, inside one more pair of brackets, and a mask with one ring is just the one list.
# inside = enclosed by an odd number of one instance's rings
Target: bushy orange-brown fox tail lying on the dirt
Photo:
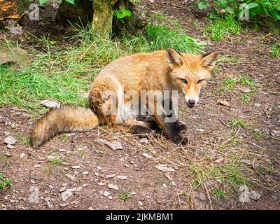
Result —
[[99, 125], [97, 116], [81, 106], [64, 106], [51, 109], [38, 120], [31, 135], [31, 146], [41, 146], [56, 134], [71, 131], [87, 131]]

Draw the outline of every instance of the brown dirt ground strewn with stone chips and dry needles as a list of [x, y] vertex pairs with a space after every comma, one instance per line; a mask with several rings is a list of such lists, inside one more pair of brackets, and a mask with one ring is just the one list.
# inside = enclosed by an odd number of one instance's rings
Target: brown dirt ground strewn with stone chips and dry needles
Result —
[[[147, 16], [158, 12], [180, 19], [190, 36], [202, 36], [207, 22], [189, 1], [146, 0], [138, 8]], [[91, 132], [59, 135], [34, 149], [28, 146], [36, 122], [31, 111], [1, 107], [0, 173], [15, 185], [0, 191], [0, 209], [280, 209], [280, 64], [269, 51], [268, 33], [269, 29], [250, 29], [219, 42], [202, 38], [208, 44], [207, 51], [220, 50], [224, 56], [239, 60], [218, 64], [195, 109], [188, 109], [180, 100], [179, 120], [187, 124], [183, 135], [189, 138], [188, 146], [176, 147], [160, 134], [139, 140], [99, 127]], [[226, 76], [245, 73], [258, 81], [251, 87], [255, 94], [249, 102], [241, 102], [241, 87], [235, 92], [217, 93]], [[220, 99], [230, 106], [218, 105]], [[242, 118], [250, 126], [225, 125], [233, 118]], [[265, 138], [257, 139], [254, 132]], [[20, 139], [15, 148], [3, 143], [8, 136]], [[216, 146], [232, 136], [242, 141], [241, 146], [216, 153]], [[112, 151], [99, 139], [119, 141], [123, 149]], [[219, 184], [214, 181], [193, 186], [191, 164], [207, 158], [211, 166], [218, 160], [228, 160], [232, 151], [249, 160], [255, 175], [250, 188], [261, 195], [258, 200], [241, 203], [239, 189], [216, 197], [210, 190]], [[258, 169], [262, 161], [274, 172]], [[170, 170], [162, 172], [155, 165], [169, 165]]]

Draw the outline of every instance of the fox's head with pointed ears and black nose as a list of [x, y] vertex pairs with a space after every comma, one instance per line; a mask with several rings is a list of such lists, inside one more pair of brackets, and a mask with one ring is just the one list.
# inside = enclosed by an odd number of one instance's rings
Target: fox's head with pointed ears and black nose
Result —
[[218, 61], [220, 53], [191, 55], [167, 48], [166, 55], [172, 89], [183, 94], [188, 107], [194, 107], [200, 98], [200, 90], [211, 78], [210, 72]]

